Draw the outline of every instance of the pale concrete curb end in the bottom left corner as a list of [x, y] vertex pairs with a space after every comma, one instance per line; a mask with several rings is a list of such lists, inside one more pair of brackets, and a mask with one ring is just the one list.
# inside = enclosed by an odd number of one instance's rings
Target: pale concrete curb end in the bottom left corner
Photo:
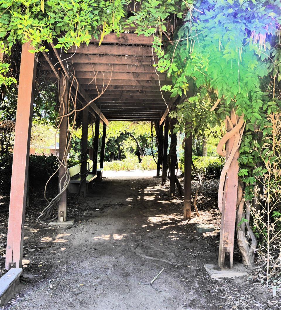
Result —
[[12, 268], [0, 278], [0, 307], [16, 294], [21, 273], [22, 268]]

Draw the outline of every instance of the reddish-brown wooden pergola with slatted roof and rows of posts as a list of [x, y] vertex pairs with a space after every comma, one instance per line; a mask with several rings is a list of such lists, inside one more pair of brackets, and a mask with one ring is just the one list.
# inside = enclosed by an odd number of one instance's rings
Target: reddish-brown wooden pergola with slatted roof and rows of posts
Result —
[[[98, 152], [99, 126], [103, 125], [100, 168], [103, 167], [106, 127], [109, 121], [154, 121], [159, 122], [163, 130], [162, 184], [167, 176], [167, 151], [170, 129], [171, 145], [177, 143], [173, 128], [176, 120], [169, 123], [169, 111], [182, 100], [171, 99], [168, 93], [161, 92], [160, 86], [171, 83], [166, 73], [156, 72], [153, 66], [157, 62], [153, 48], [153, 37], [137, 36], [134, 33], [108, 34], [99, 46], [99, 40], [92, 39], [90, 44], [80, 48], [72, 47], [67, 53], [48, 46], [49, 51], [39, 55], [36, 63], [31, 47], [24, 43], [22, 47], [18, 105], [15, 125], [15, 145], [11, 181], [10, 213], [7, 237], [6, 268], [20, 267], [23, 251], [27, 176], [29, 167], [29, 142], [33, 112], [33, 87], [36, 70], [48, 74], [50, 82], [59, 81], [63, 93], [63, 104], [59, 109], [61, 119], [59, 132], [59, 158], [64, 159], [67, 143], [67, 108], [69, 94], [75, 94], [77, 100], [86, 108], [82, 111], [81, 174], [86, 173], [88, 119], [89, 113], [95, 117], [94, 152]], [[107, 88], [106, 88], [107, 87]], [[103, 91], [106, 88], [105, 91]], [[63, 92], [64, 90], [64, 92]], [[193, 89], [190, 90], [192, 95]], [[103, 93], [102, 95], [100, 95]], [[98, 98], [97, 98], [98, 97]], [[97, 98], [94, 100], [94, 98]], [[183, 98], [184, 99], [184, 98]], [[94, 101], [93, 101], [94, 100]], [[185, 180], [184, 180], [184, 219], [191, 218], [191, 146], [192, 136], [185, 141]], [[175, 167], [175, 157], [170, 159]], [[158, 163], [159, 164], [159, 163]], [[160, 165], [159, 165], [160, 167]], [[159, 173], [158, 169], [158, 173]], [[93, 174], [97, 172], [97, 156], [93, 165]], [[59, 169], [59, 179], [65, 178], [65, 169]], [[175, 193], [175, 168], [170, 169], [170, 196]], [[81, 182], [81, 197], [86, 197], [86, 181]], [[235, 197], [236, 199], [236, 197]], [[232, 199], [233, 200], [233, 199]], [[233, 205], [235, 204], [235, 206]], [[236, 209], [236, 201], [232, 201]], [[67, 220], [67, 191], [59, 200], [59, 221]], [[219, 264], [232, 267], [234, 218], [222, 223], [221, 234], [227, 235], [220, 244], [222, 251]], [[229, 241], [228, 241], [229, 240]]]

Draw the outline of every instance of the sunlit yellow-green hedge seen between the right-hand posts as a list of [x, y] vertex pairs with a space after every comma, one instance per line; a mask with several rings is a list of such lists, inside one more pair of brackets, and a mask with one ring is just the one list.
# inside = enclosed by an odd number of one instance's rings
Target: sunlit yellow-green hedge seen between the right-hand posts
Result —
[[[224, 160], [221, 157], [202, 157], [192, 156], [194, 166], [201, 177], [219, 178], [224, 165]], [[179, 166], [184, 172], [184, 154], [180, 157]]]

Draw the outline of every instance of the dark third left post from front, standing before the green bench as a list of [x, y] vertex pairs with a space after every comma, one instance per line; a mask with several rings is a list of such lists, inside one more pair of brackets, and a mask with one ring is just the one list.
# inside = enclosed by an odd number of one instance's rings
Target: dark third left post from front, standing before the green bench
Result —
[[80, 197], [87, 196], [87, 150], [88, 150], [88, 112], [89, 106], [83, 109], [82, 114], [82, 137], [81, 137], [81, 185]]

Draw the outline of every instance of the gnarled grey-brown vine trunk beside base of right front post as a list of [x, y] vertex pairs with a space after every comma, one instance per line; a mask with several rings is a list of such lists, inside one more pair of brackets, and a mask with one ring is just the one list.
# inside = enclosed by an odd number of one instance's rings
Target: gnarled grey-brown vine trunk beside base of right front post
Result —
[[[244, 201], [243, 198], [243, 182], [238, 183], [238, 193], [237, 193], [237, 213], [236, 213], [236, 231], [237, 231], [237, 242], [239, 250], [242, 256], [242, 262], [246, 266], [250, 266], [254, 263], [255, 250], [257, 247], [257, 238], [254, 235], [250, 227], [250, 207], [249, 201]], [[245, 206], [245, 210], [244, 210]], [[251, 237], [251, 244], [246, 235], [247, 231]]]

